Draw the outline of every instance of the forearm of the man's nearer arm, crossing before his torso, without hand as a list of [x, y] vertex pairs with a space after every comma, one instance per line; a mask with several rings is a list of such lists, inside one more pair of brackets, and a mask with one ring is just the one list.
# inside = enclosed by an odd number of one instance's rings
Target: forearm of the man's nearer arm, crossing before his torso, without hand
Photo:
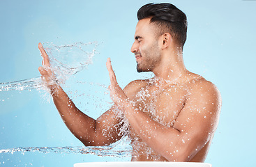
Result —
[[[181, 151], [176, 142], [181, 133], [177, 129], [165, 127], [152, 120], [146, 113], [135, 108], [133, 104], [127, 104], [124, 113], [130, 126], [142, 138], [142, 141], [169, 161], [179, 159], [179, 152], [175, 153], [175, 151]], [[181, 161], [186, 160], [182, 159]]]

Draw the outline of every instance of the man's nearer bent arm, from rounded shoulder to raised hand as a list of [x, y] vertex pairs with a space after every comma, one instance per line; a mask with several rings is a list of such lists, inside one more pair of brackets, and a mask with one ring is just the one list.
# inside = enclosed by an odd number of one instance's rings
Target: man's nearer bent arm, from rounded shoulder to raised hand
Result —
[[[165, 127], [135, 108], [118, 86], [110, 60], [112, 100], [122, 108], [130, 126], [149, 147], [169, 161], [189, 161], [213, 137], [220, 113], [220, 94], [208, 81], [191, 88], [173, 127]], [[143, 125], [143, 126], [142, 126]]]

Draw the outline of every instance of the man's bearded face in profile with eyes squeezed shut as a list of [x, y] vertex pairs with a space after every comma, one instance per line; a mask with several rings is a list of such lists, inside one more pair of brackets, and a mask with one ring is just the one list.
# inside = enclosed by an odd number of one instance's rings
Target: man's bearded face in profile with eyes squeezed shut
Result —
[[141, 19], [136, 26], [135, 42], [131, 51], [137, 61], [137, 72], [152, 71], [160, 62], [160, 49], [156, 38], [156, 27], [150, 19]]

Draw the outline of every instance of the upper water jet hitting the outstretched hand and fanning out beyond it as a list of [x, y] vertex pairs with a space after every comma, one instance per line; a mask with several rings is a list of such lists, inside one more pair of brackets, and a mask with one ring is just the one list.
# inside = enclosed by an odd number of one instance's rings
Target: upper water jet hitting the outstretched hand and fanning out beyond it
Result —
[[[97, 42], [75, 42], [71, 45], [54, 45], [52, 43], [43, 43], [44, 49], [50, 58], [51, 69], [54, 71], [61, 84], [84, 70], [92, 63], [92, 58], [96, 54]], [[0, 83], [0, 92], [9, 90], [31, 90], [45, 87], [45, 83], [40, 77], [24, 79], [20, 81], [10, 81]]]

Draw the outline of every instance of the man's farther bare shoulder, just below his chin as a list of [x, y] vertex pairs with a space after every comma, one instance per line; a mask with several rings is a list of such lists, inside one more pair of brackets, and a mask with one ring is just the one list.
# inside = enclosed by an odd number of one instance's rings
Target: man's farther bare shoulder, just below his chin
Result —
[[144, 86], [149, 83], [149, 79], [138, 79], [131, 81], [125, 88], [123, 88], [124, 93], [130, 98], [136, 95], [136, 93]]

